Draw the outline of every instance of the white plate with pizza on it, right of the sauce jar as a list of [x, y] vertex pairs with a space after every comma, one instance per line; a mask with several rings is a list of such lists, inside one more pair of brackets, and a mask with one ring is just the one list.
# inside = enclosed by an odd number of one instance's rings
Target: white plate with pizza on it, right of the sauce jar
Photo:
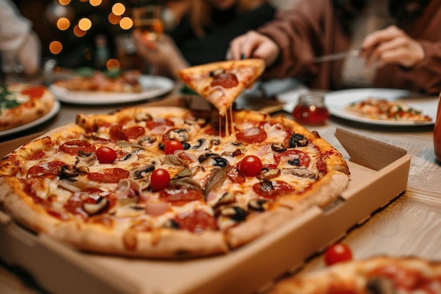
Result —
[[325, 94], [330, 114], [376, 125], [433, 125], [437, 97], [398, 89], [351, 89]]

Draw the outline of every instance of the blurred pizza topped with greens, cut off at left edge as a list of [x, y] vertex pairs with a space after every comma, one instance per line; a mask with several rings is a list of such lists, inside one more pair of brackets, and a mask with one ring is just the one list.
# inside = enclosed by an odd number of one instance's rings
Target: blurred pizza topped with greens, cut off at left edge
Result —
[[24, 125], [51, 111], [55, 97], [41, 85], [20, 82], [0, 86], [0, 131]]

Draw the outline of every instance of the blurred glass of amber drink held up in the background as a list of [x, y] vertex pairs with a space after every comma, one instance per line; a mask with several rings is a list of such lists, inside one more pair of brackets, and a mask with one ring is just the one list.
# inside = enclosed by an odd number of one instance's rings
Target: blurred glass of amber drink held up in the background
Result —
[[163, 33], [160, 5], [146, 5], [132, 8], [133, 27], [150, 41], [156, 41]]

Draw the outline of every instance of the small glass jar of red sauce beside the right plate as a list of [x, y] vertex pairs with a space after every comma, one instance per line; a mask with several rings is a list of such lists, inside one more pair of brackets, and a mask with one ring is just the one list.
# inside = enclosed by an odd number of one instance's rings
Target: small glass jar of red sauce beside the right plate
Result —
[[302, 94], [292, 110], [292, 116], [304, 125], [323, 125], [329, 118], [325, 97], [320, 93]]

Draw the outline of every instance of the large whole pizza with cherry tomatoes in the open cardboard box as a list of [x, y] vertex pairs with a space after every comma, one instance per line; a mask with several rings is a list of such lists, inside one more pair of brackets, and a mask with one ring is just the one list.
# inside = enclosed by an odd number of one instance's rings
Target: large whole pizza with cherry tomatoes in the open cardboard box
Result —
[[[216, 111], [215, 111], [216, 114]], [[0, 207], [80, 250], [222, 255], [347, 187], [342, 154], [285, 116], [137, 106], [77, 114], [0, 161]]]

